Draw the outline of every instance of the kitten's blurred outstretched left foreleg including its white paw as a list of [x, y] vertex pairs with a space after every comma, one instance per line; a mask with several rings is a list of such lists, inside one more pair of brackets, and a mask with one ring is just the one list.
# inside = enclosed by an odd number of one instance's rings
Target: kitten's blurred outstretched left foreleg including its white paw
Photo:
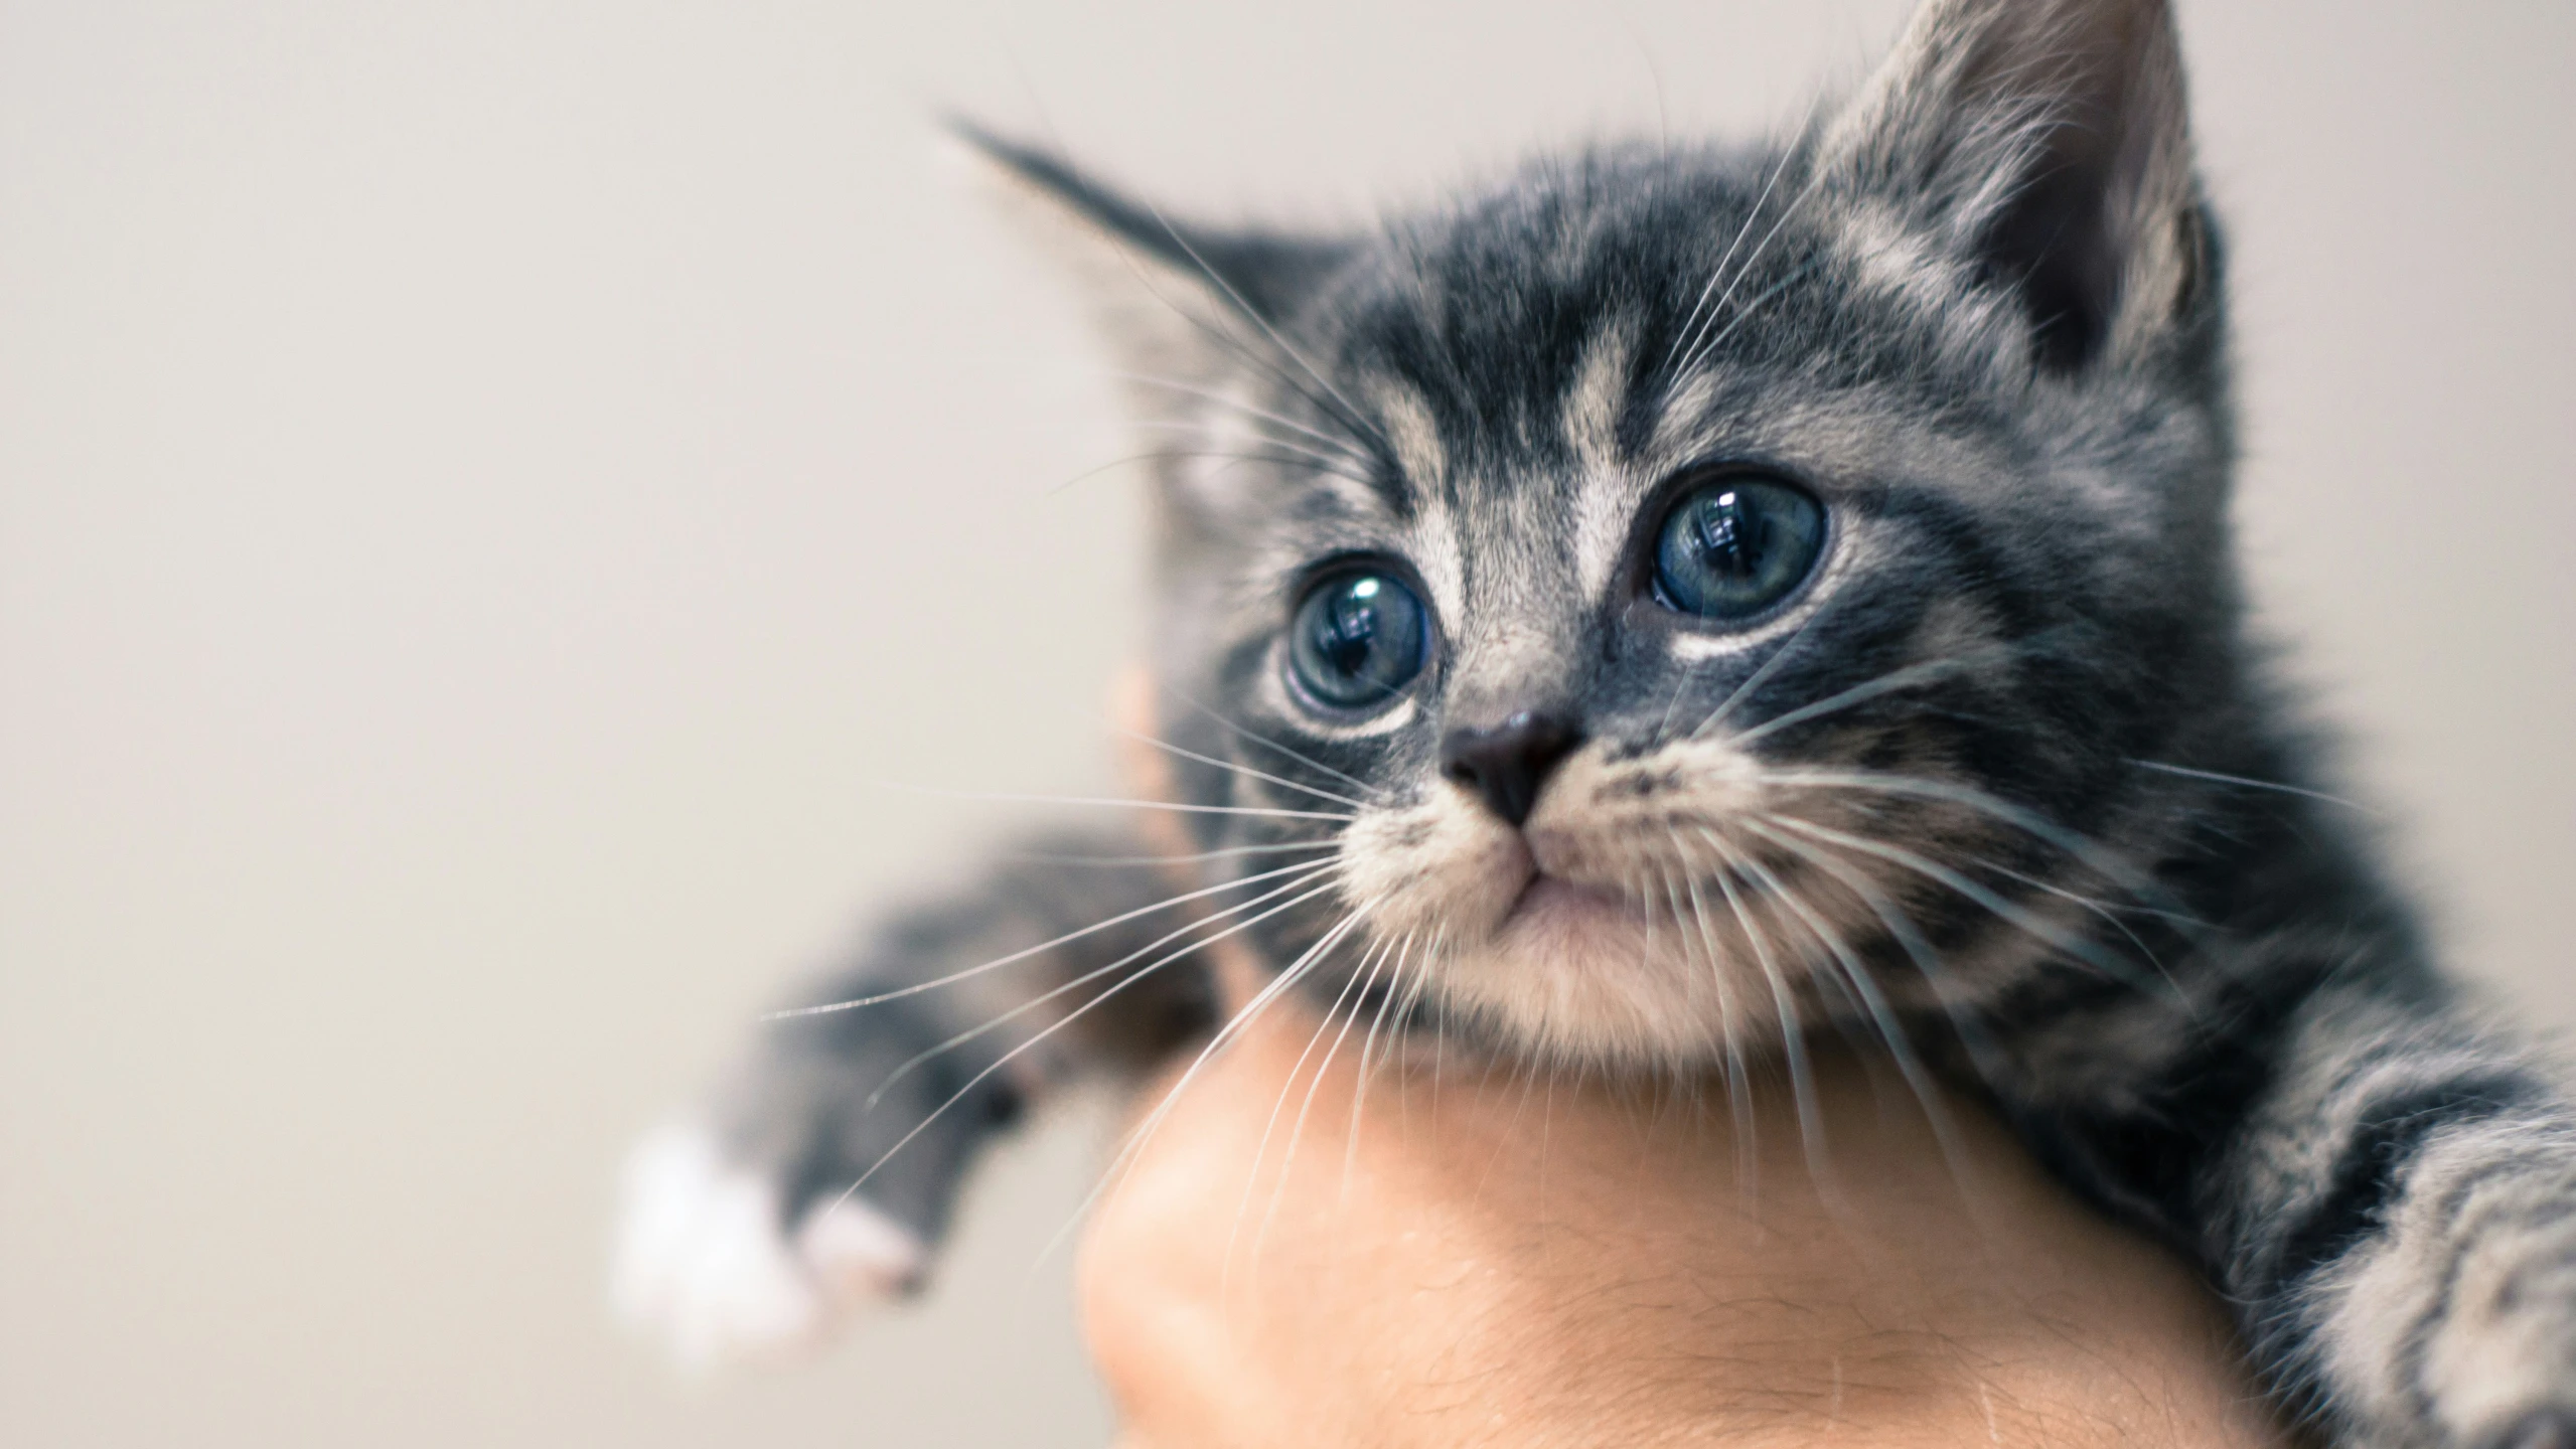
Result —
[[1036, 842], [799, 991], [793, 1006], [899, 996], [762, 1024], [701, 1114], [636, 1148], [621, 1310], [683, 1361], [711, 1364], [809, 1343], [842, 1310], [914, 1289], [997, 1130], [1203, 1019], [1195, 960], [1136, 973], [1218, 929], [1190, 929], [1213, 914], [1200, 906], [1221, 911], [1262, 883], [1154, 909], [1193, 885], [1139, 865], [1149, 854], [1123, 834]]

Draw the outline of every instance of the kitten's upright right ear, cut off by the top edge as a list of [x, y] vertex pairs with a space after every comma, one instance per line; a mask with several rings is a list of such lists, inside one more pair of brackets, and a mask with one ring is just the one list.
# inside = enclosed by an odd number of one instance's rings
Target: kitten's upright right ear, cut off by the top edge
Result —
[[1924, 0], [1824, 152], [2017, 286], [2048, 368], [2128, 355], [2197, 296], [2166, 0]]

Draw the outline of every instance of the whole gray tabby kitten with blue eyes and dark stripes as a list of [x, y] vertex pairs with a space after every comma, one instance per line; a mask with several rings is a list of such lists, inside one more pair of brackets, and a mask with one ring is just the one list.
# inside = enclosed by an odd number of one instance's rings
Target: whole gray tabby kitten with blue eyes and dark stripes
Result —
[[2468, 1022], [2246, 641], [2161, 0], [1927, 0], [1783, 142], [1352, 237], [981, 144], [1087, 237], [1164, 438], [1195, 847], [899, 916], [809, 996], [863, 1006], [639, 1153], [634, 1313], [703, 1356], [909, 1289], [976, 1150], [1206, 1029], [1234, 937], [1270, 996], [1517, 1060], [1875, 1032], [2192, 1253], [2329, 1439], [2576, 1446], [2576, 1109]]

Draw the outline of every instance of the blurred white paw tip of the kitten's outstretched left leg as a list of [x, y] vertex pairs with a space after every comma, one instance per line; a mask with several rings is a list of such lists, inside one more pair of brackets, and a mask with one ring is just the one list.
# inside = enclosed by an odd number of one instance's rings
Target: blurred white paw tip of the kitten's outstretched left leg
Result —
[[925, 1266], [922, 1241], [858, 1197], [817, 1204], [788, 1241], [778, 1189], [724, 1161], [701, 1127], [636, 1145], [621, 1217], [616, 1307], [690, 1369], [811, 1349]]

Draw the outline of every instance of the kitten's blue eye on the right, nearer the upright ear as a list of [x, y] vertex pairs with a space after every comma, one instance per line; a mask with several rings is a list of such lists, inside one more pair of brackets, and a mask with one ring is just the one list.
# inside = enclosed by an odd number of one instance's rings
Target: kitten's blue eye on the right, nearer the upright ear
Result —
[[1824, 504], [1772, 479], [1718, 479], [1664, 517], [1654, 592], [1700, 618], [1752, 618], [1806, 582], [1824, 553]]

